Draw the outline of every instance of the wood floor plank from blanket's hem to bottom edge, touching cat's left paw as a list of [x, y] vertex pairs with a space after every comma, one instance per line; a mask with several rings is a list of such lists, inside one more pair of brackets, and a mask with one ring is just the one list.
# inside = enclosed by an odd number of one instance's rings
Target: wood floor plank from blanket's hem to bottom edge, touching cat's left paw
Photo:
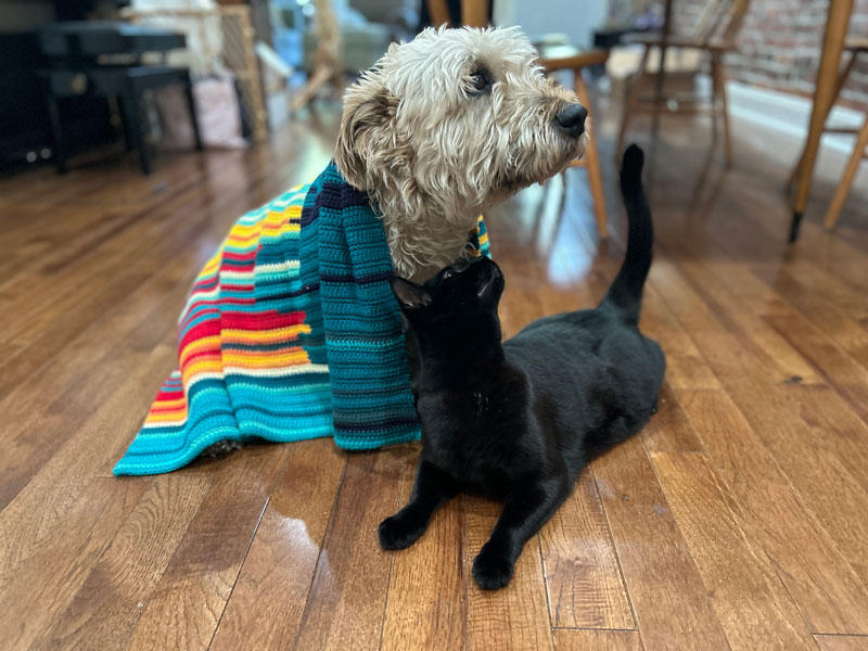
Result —
[[410, 446], [352, 455], [317, 563], [295, 644], [379, 649], [392, 552], [376, 527], [398, 507]]

